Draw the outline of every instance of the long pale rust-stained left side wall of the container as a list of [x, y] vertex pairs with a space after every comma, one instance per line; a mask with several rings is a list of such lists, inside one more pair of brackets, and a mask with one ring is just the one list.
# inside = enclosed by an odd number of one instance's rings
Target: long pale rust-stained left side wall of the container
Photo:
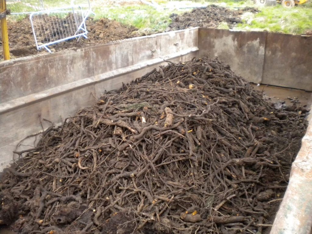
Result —
[[[197, 36], [195, 28], [1, 62], [0, 171], [12, 162], [20, 140], [51, 125], [44, 119], [61, 124], [94, 104], [104, 90], [118, 89], [166, 64], [163, 59], [197, 57]], [[34, 141], [31, 137], [22, 144]]]

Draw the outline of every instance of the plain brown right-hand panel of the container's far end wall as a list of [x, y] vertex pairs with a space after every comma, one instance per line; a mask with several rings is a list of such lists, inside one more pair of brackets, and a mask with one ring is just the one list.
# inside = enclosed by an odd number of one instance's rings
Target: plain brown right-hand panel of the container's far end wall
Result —
[[312, 91], [312, 37], [268, 33], [261, 82]]

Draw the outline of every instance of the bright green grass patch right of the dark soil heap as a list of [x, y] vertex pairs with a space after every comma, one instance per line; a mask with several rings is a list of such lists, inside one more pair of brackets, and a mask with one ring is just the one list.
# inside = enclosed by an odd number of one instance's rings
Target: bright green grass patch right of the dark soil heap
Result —
[[256, 15], [247, 16], [236, 29], [303, 34], [312, 29], [312, 8], [263, 7]]

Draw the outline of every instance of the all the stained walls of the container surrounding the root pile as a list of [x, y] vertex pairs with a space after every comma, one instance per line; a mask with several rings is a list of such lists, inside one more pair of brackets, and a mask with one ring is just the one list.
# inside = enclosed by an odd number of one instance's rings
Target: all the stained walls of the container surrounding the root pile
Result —
[[[285, 98], [301, 92], [297, 90], [312, 91], [312, 37], [268, 32], [193, 28], [4, 61], [0, 63], [1, 170], [15, 159], [12, 152], [22, 139], [49, 127], [43, 119], [62, 124], [76, 110], [93, 105], [104, 90], [118, 89], [167, 64], [164, 59], [189, 61], [207, 54], [252, 83], [296, 89], [287, 91]], [[305, 96], [311, 104], [310, 94]], [[271, 233], [311, 231], [311, 126], [293, 163]], [[23, 145], [33, 142], [27, 138]]]

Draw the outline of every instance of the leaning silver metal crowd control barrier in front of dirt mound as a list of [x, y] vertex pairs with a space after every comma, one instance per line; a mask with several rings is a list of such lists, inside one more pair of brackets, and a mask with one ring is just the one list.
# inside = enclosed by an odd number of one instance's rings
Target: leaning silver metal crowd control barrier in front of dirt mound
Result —
[[87, 38], [85, 20], [89, 12], [80, 6], [32, 12], [30, 22], [37, 49], [42, 47], [51, 53], [48, 46], [72, 38]]

